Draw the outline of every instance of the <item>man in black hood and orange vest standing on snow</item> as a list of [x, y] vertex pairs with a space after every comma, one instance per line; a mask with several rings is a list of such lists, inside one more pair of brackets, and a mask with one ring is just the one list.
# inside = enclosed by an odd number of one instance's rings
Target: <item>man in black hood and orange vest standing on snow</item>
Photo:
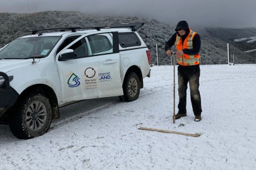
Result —
[[166, 42], [166, 55], [171, 56], [171, 47], [176, 45], [176, 60], [178, 62], [178, 113], [175, 118], [186, 116], [186, 89], [190, 85], [190, 98], [195, 115], [195, 121], [202, 120], [201, 96], [199, 93], [200, 77], [200, 47], [201, 38], [198, 33], [190, 30], [186, 21], [180, 21], [175, 28], [176, 33]]

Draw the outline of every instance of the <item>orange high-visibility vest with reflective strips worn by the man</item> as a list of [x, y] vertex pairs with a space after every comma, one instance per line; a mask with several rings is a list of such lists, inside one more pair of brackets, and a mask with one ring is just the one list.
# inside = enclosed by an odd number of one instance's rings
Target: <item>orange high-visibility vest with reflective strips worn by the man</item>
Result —
[[[182, 44], [181, 37], [176, 35], [176, 49], [182, 50], [182, 49], [192, 49], [193, 48], [193, 38], [195, 37], [196, 32], [190, 30], [189, 35], [185, 38], [184, 43]], [[198, 65], [200, 64], [200, 55], [188, 55], [183, 54], [178, 59], [176, 59], [178, 64], [180, 65]]]

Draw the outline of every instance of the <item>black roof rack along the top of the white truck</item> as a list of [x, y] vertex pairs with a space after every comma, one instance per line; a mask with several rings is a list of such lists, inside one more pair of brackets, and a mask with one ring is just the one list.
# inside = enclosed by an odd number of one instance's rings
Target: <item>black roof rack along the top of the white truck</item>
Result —
[[121, 24], [121, 25], [111, 25], [109, 27], [107, 26], [90, 26], [90, 27], [66, 27], [66, 28], [46, 28], [46, 29], [40, 29], [40, 30], [29, 30], [31, 31], [32, 35], [35, 35], [38, 31], [49, 31], [49, 30], [56, 30], [56, 31], [66, 31], [71, 30], [71, 32], [76, 32], [76, 30], [82, 30], [82, 29], [95, 29], [97, 31], [100, 31], [101, 28], [131, 28], [131, 31], [137, 31], [139, 28], [142, 28], [144, 23], [128, 23], [128, 24]]

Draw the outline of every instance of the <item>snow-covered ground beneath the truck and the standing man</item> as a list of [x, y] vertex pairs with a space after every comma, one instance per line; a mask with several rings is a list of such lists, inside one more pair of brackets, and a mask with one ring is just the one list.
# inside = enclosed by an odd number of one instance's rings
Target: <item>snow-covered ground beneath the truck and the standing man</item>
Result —
[[188, 116], [173, 123], [173, 66], [155, 66], [137, 101], [66, 106], [49, 132], [30, 140], [0, 125], [0, 169], [256, 169], [256, 65], [200, 68], [201, 122], [188, 96]]

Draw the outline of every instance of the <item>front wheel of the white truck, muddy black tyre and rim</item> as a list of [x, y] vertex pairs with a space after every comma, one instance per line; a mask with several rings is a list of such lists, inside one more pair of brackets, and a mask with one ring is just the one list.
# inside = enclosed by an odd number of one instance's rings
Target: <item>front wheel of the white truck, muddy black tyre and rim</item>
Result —
[[49, 130], [52, 110], [49, 99], [41, 93], [31, 93], [21, 99], [9, 125], [18, 139], [32, 139]]

